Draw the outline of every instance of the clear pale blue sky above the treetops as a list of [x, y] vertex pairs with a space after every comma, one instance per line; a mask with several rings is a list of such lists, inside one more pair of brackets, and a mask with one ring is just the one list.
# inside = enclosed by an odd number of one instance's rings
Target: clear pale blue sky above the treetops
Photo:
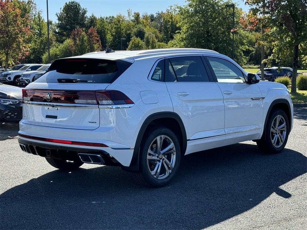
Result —
[[[87, 15], [94, 13], [95, 16], [111, 16], [121, 13], [127, 15], [127, 10], [143, 13], [156, 13], [165, 11], [169, 6], [178, 4], [185, 5], [185, 0], [76, 0], [81, 7], [87, 8]], [[46, 0], [35, 0], [37, 8], [42, 11], [43, 17], [47, 20]], [[69, 0], [49, 0], [49, 20], [56, 21], [56, 13]], [[248, 6], [244, 5], [243, 0], [234, 0], [243, 10], [248, 11]]]

